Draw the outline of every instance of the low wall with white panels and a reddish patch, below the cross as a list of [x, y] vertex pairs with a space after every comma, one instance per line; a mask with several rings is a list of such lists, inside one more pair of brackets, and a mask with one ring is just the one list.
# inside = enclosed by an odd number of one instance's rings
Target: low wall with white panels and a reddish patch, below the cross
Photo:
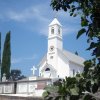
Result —
[[[34, 96], [42, 97], [44, 87], [47, 84], [51, 84], [51, 79], [39, 79], [37, 80], [20, 80], [16, 82], [1, 82], [0, 94], [22, 96], [27, 94], [34, 94]], [[29, 95], [28, 95], [29, 96]], [[2, 100], [2, 99], [1, 99]], [[14, 99], [15, 100], [15, 99]]]

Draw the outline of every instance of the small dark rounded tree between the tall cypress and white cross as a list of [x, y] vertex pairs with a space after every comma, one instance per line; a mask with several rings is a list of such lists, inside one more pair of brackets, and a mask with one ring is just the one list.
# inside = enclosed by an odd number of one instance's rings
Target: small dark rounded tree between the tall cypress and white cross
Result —
[[17, 80], [26, 78], [24, 75], [21, 75], [21, 74], [22, 73], [21, 73], [20, 70], [18, 70], [18, 69], [12, 69], [11, 72], [10, 72], [10, 78], [9, 78], [9, 80], [17, 81]]

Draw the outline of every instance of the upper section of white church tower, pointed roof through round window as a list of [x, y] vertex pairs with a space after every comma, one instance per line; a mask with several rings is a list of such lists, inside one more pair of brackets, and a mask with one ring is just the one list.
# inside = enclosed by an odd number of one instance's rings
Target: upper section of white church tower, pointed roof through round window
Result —
[[62, 48], [62, 25], [57, 18], [54, 18], [49, 24], [48, 53], [57, 51], [57, 49], [62, 50]]

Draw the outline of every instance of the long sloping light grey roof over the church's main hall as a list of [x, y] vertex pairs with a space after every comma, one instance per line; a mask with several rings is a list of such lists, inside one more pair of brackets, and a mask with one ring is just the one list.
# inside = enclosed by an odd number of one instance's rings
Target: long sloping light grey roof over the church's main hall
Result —
[[69, 61], [74, 62], [76, 64], [79, 64], [79, 65], [82, 65], [83, 66], [83, 63], [85, 61], [84, 58], [82, 58], [82, 57], [80, 57], [78, 55], [75, 55], [74, 53], [71, 53], [71, 52], [66, 51], [66, 50], [63, 50], [62, 53], [67, 57], [67, 59]]

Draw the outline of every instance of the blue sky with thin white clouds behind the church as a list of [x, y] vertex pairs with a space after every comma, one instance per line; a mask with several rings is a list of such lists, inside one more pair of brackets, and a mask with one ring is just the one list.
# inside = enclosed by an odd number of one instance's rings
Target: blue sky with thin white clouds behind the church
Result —
[[[32, 66], [37, 68], [47, 52], [48, 25], [56, 12], [50, 6], [50, 0], [0, 0], [1, 49], [6, 33], [11, 31], [11, 69], [19, 69], [25, 76], [31, 76]], [[70, 17], [64, 11], [57, 12], [62, 24], [63, 48], [89, 59], [91, 54], [86, 36], [78, 40], [76, 35], [80, 27], [80, 17]]]

